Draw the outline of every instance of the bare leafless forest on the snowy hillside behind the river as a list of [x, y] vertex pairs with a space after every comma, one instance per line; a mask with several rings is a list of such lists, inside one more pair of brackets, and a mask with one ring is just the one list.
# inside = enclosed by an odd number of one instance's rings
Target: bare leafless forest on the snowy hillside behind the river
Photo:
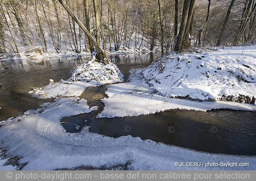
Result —
[[[62, 1], [106, 51], [236, 46], [256, 38], [255, 0]], [[0, 52], [90, 52], [91, 40], [58, 0], [1, 0]], [[91, 45], [92, 46], [92, 45]]]

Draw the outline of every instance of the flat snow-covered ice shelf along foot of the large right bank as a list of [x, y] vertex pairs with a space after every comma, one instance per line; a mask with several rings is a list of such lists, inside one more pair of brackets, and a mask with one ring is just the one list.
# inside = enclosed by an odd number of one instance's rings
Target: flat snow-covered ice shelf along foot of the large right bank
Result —
[[[211, 109], [234, 109], [256, 111], [256, 106], [249, 103], [227, 101], [198, 102], [186, 99], [167, 98], [155, 94], [143, 76], [142, 69], [131, 70], [129, 82], [108, 85], [108, 98], [102, 99], [105, 107], [97, 118], [148, 115], [168, 109], [188, 109], [207, 111]], [[117, 111], [118, 110], [118, 111]]]

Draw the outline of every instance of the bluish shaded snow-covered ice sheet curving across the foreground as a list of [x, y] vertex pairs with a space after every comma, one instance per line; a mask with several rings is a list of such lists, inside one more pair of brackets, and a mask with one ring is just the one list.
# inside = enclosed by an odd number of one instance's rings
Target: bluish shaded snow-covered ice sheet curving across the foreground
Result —
[[[44, 111], [39, 113], [38, 110]], [[61, 118], [91, 111], [86, 100], [56, 98], [27, 115], [4, 122], [0, 127], [2, 147], [7, 155], [22, 157], [28, 162], [23, 170], [54, 170], [80, 165], [100, 167], [132, 161], [134, 170], [255, 170], [256, 157], [216, 155], [196, 152], [130, 135], [110, 138], [88, 131], [65, 132], [58, 123]], [[93, 108], [95, 109], [95, 108]], [[20, 121], [18, 121], [20, 120]], [[18, 121], [18, 122], [17, 122]], [[171, 136], [171, 135], [170, 135]], [[175, 167], [175, 162], [233, 162], [249, 163], [249, 167]], [[4, 162], [3, 160], [1, 163]], [[10, 168], [8, 168], [10, 169]]]

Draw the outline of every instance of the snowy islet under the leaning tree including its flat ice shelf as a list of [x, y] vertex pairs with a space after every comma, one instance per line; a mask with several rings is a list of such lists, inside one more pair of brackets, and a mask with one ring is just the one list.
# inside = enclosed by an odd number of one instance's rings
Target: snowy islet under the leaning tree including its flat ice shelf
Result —
[[50, 79], [49, 84], [43, 88], [32, 88], [28, 92], [39, 99], [56, 97], [77, 97], [88, 87], [100, 86], [106, 83], [116, 83], [123, 81], [123, 75], [116, 65], [89, 61], [78, 65], [73, 71], [72, 77], [64, 81], [54, 83]]

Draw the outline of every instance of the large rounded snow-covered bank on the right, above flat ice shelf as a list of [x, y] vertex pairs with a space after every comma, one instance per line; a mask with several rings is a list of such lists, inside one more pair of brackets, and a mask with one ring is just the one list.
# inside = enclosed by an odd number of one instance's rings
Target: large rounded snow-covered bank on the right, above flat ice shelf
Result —
[[143, 76], [166, 97], [255, 103], [256, 47], [172, 53], [154, 61]]

